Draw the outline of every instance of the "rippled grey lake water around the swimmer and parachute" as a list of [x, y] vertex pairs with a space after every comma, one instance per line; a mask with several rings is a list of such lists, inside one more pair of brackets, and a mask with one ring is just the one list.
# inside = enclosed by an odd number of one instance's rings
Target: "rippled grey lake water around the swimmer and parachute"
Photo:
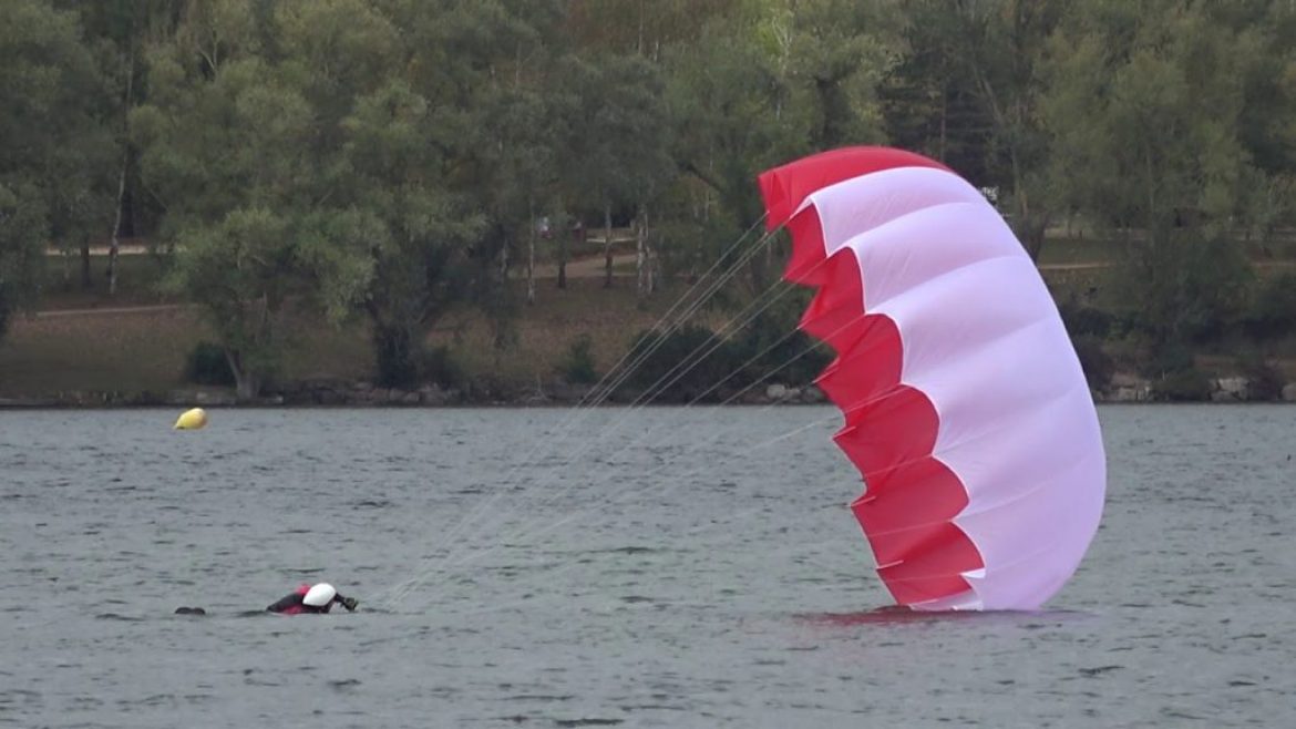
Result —
[[1048, 610], [910, 619], [828, 407], [176, 415], [0, 412], [0, 725], [1296, 725], [1296, 407], [1100, 409]]

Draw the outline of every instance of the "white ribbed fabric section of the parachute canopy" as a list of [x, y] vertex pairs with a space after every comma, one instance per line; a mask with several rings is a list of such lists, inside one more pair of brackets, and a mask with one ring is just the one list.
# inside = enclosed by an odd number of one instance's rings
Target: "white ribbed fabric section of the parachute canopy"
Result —
[[934, 455], [968, 490], [955, 523], [985, 569], [966, 575], [975, 598], [941, 603], [1038, 606], [1089, 546], [1105, 462], [1083, 372], [1034, 263], [980, 192], [942, 170], [875, 173], [807, 204], [826, 253], [855, 252], [864, 310], [896, 322], [901, 380], [934, 405]]

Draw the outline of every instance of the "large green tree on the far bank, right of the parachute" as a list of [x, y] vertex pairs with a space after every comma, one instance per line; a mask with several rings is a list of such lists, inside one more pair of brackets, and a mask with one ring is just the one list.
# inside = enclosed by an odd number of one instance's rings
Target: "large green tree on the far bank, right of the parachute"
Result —
[[1267, 23], [1225, 5], [1095, 0], [1052, 43], [1055, 184], [1125, 231], [1131, 301], [1156, 342], [1208, 336], [1249, 281], [1236, 244], [1266, 174], [1245, 143]]

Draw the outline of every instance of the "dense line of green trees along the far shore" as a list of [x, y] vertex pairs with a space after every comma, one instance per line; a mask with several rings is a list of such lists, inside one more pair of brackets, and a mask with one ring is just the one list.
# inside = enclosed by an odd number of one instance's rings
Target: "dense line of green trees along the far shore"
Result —
[[0, 336], [48, 246], [88, 285], [111, 241], [111, 289], [145, 237], [240, 394], [302, 307], [365, 320], [406, 384], [450, 306], [507, 320], [538, 219], [634, 227], [648, 296], [758, 222], [761, 170], [846, 144], [997, 188], [1032, 256], [1067, 219], [1122, 240], [1142, 335], [1208, 336], [1257, 289], [1244, 244], [1293, 224], [1296, 5], [6, 0]]

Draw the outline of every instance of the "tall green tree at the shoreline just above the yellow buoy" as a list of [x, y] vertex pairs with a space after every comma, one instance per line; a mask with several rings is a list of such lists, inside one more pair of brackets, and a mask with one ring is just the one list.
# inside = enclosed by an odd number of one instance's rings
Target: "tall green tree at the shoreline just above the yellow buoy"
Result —
[[241, 398], [273, 374], [284, 304], [319, 198], [316, 112], [262, 54], [248, 0], [193, 3], [148, 57], [149, 101], [131, 114], [144, 182], [166, 210], [166, 287], [202, 305]]

